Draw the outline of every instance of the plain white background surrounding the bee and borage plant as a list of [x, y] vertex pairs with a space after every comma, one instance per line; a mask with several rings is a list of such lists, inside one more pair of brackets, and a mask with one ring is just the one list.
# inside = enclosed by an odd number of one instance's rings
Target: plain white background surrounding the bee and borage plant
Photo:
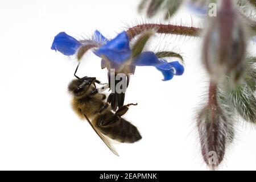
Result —
[[[138, 67], [126, 103], [138, 102], [125, 115], [143, 139], [115, 144], [113, 155], [88, 123], [73, 113], [67, 85], [76, 60], [50, 49], [60, 31], [82, 38], [96, 29], [114, 37], [126, 24], [143, 21], [138, 0], [0, 2], [0, 169], [205, 170], [195, 125], [208, 76], [201, 65], [201, 41], [155, 36], [148, 49], [177, 51], [185, 73], [168, 82], [155, 68]], [[172, 20], [197, 24], [185, 7]], [[157, 20], [157, 19], [156, 19]], [[86, 55], [80, 76], [107, 81], [100, 59]], [[255, 127], [240, 121], [236, 139], [220, 169], [256, 169]]]

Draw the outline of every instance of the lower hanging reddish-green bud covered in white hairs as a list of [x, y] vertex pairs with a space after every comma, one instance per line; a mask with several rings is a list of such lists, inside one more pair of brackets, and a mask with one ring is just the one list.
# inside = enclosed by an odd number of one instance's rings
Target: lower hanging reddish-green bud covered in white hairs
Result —
[[220, 107], [208, 104], [197, 118], [197, 127], [204, 161], [214, 169], [224, 158], [229, 137], [227, 119]]

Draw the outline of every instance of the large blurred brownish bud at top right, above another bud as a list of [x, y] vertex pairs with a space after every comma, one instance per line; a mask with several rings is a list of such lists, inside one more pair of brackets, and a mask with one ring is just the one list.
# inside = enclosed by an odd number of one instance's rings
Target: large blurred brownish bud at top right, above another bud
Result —
[[204, 38], [203, 61], [212, 80], [228, 75], [236, 83], [243, 73], [245, 50], [242, 18], [232, 1], [223, 0]]

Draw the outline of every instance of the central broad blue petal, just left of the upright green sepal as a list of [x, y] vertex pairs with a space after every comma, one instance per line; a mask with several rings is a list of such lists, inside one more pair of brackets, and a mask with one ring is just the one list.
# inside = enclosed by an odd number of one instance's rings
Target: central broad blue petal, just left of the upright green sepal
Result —
[[118, 34], [114, 39], [94, 51], [94, 53], [100, 57], [106, 56], [109, 61], [113, 61], [116, 64], [129, 60], [131, 49], [127, 33], [124, 31]]

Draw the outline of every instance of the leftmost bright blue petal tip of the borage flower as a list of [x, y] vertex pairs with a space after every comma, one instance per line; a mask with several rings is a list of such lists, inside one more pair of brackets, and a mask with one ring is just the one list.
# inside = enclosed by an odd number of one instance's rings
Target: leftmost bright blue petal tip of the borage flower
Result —
[[77, 49], [81, 46], [81, 43], [72, 36], [69, 36], [65, 32], [57, 34], [52, 43], [52, 50], [59, 51], [64, 55], [75, 55]]

